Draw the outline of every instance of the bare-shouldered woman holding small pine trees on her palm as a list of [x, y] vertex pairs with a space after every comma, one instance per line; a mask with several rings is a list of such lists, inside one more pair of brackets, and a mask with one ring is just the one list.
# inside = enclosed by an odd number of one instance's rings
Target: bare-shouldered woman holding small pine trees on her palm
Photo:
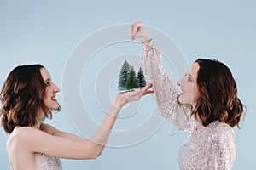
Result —
[[42, 122], [52, 116], [52, 110], [60, 108], [56, 99], [60, 89], [44, 66], [15, 67], [1, 91], [1, 124], [10, 134], [6, 147], [11, 169], [59, 170], [62, 169], [59, 158], [96, 159], [105, 147], [122, 106], [153, 93], [148, 90], [151, 86], [117, 94], [101, 127], [91, 139], [83, 139]]

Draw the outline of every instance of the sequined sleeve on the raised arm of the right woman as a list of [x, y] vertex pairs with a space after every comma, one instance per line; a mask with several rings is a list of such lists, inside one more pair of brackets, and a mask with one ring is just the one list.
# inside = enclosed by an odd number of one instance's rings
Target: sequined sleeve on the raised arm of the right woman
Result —
[[161, 114], [181, 130], [189, 132], [195, 128], [195, 119], [190, 116], [191, 105], [178, 103], [177, 83], [169, 80], [157, 48], [143, 48], [142, 68], [146, 81], [153, 83], [155, 99]]

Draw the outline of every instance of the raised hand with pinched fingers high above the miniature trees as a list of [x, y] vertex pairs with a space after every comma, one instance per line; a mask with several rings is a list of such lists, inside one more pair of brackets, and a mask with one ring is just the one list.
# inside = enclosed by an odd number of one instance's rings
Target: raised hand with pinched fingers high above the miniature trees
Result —
[[143, 27], [142, 22], [134, 22], [130, 26], [131, 40], [135, 40], [137, 37], [141, 38], [143, 42], [148, 42], [150, 35], [148, 31]]

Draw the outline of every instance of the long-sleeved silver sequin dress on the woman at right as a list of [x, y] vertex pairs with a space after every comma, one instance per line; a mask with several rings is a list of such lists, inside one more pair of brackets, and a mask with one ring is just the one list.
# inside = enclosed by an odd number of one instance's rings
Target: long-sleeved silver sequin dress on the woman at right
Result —
[[162, 115], [189, 133], [178, 154], [180, 169], [231, 169], [236, 157], [234, 130], [218, 121], [195, 130], [196, 120], [190, 116], [191, 105], [177, 102], [177, 83], [169, 80], [157, 48], [143, 49], [142, 67], [147, 82], [153, 83], [155, 99]]

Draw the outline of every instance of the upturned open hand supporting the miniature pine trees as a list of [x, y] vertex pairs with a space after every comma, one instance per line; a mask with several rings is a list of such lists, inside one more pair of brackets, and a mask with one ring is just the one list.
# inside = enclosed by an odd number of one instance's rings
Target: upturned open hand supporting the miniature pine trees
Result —
[[119, 93], [113, 99], [113, 105], [115, 105], [115, 107], [120, 109], [123, 107], [123, 105], [130, 103], [132, 101], [137, 101], [146, 94], [152, 94], [154, 93], [154, 90], [149, 89], [149, 88], [152, 88], [152, 86], [153, 86], [152, 83], [149, 83], [146, 87], [144, 87], [141, 90]]

